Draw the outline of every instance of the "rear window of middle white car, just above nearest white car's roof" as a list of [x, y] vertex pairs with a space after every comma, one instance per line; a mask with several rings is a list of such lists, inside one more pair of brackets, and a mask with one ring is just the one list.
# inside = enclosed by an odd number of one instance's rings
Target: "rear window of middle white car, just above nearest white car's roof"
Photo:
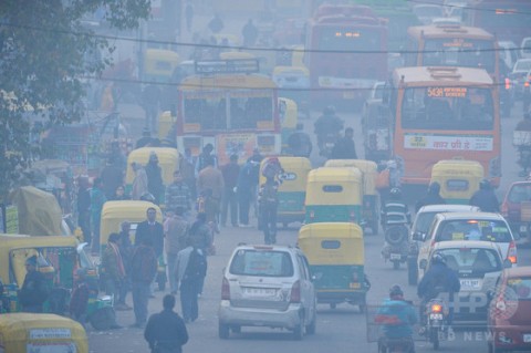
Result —
[[436, 241], [448, 240], [510, 242], [512, 238], [502, 220], [456, 219], [445, 221], [437, 230]]

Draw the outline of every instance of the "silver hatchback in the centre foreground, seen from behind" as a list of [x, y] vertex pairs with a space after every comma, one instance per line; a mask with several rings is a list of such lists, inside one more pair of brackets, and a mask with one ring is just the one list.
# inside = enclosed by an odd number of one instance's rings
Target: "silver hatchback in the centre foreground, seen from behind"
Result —
[[295, 340], [314, 334], [316, 293], [302, 251], [285, 246], [238, 246], [225, 269], [219, 338], [242, 326], [281, 328]]

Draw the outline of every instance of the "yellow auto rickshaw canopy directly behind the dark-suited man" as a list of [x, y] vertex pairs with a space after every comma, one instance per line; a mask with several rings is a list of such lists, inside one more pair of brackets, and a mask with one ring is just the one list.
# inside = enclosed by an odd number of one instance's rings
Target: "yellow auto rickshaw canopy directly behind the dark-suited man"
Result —
[[[102, 208], [102, 218], [100, 224], [100, 243], [106, 245], [108, 236], [112, 232], [119, 232], [121, 224], [125, 220], [132, 225], [139, 224], [147, 219], [147, 209], [155, 208], [157, 211], [157, 221], [163, 221], [163, 212], [160, 208], [149, 201], [140, 200], [121, 200], [121, 201], [106, 201]], [[136, 226], [135, 226], [136, 227]], [[132, 227], [132, 230], [136, 230]], [[134, 239], [132, 239], [134, 241]]]

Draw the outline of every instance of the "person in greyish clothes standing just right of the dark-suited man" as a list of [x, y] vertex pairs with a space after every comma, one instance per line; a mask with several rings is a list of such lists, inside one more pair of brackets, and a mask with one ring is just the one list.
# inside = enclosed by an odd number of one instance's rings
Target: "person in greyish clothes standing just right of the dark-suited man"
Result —
[[179, 284], [174, 276], [177, 255], [186, 248], [188, 231], [190, 229], [190, 225], [183, 215], [183, 208], [178, 207], [166, 222], [166, 259], [168, 260], [168, 279], [171, 294], [177, 293]]

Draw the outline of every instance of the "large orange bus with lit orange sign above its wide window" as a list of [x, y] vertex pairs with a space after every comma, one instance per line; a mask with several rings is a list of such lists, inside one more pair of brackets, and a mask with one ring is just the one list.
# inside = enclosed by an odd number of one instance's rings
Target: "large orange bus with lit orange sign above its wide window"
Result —
[[403, 184], [426, 185], [441, 159], [478, 160], [486, 177], [501, 176], [498, 90], [482, 69], [417, 66], [393, 72], [392, 158]]

